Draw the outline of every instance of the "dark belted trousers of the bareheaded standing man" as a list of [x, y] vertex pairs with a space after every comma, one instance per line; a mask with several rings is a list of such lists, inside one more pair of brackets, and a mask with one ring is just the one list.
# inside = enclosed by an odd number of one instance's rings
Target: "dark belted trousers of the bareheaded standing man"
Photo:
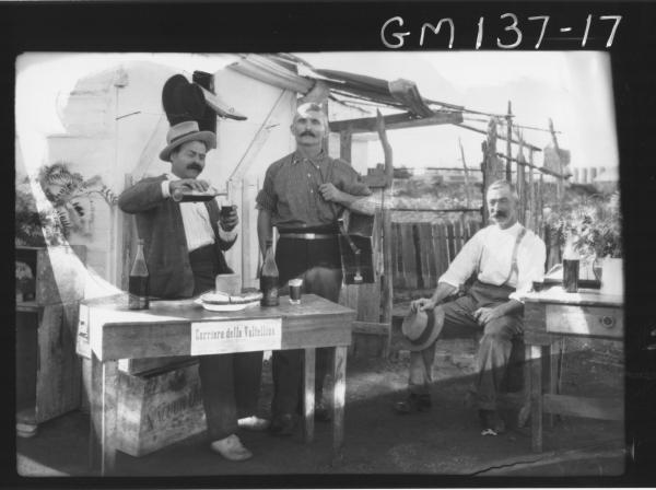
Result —
[[[281, 233], [284, 233], [281, 231]], [[303, 279], [303, 292], [316, 294], [335, 303], [339, 300], [342, 282], [341, 260], [337, 235], [330, 238], [285, 238], [278, 241], [276, 264], [280, 271], [280, 284], [290, 279]], [[301, 300], [303, 301], [303, 300]], [[303, 402], [303, 351], [278, 350], [272, 354], [273, 418], [302, 412]], [[315, 394], [321, 399], [324, 378], [328, 372], [330, 350], [316, 351]]]

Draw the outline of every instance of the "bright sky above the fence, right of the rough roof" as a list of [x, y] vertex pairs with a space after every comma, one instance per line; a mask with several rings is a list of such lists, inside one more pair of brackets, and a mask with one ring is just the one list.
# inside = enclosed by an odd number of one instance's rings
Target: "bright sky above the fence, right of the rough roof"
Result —
[[[569, 149], [572, 166], [618, 165], [610, 58], [594, 51], [414, 51], [298, 54], [315, 68], [352, 71], [388, 81], [408, 79], [426, 98], [505, 114], [543, 129], [553, 120], [559, 145]], [[479, 117], [479, 116], [476, 116]], [[484, 121], [469, 122], [484, 128]], [[395, 165], [460, 166], [458, 138], [468, 166], [482, 159], [484, 135], [454, 126], [389, 131]], [[524, 138], [543, 148], [549, 132], [525, 130]], [[372, 158], [383, 151], [372, 143]], [[505, 142], [497, 150], [505, 151]], [[516, 151], [516, 149], [514, 150]], [[541, 159], [538, 158], [541, 162]], [[371, 166], [371, 165], [370, 165]]]

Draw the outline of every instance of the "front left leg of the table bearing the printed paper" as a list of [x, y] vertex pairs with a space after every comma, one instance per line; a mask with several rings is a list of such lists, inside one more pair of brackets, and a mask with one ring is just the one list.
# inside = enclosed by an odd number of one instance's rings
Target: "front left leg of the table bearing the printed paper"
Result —
[[101, 475], [106, 476], [114, 471], [116, 462], [116, 416], [117, 416], [117, 383], [118, 362], [105, 361], [103, 363], [103, 429], [102, 453], [103, 464]]

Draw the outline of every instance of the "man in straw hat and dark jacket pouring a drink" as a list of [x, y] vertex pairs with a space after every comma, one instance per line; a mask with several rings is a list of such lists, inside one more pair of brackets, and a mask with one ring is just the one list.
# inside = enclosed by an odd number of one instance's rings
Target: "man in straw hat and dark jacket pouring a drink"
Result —
[[[236, 210], [222, 217], [214, 199], [177, 202], [178, 190], [207, 191], [198, 176], [206, 154], [216, 147], [211, 131], [186, 120], [171, 127], [160, 158], [171, 173], [144, 178], [119, 198], [122, 211], [136, 214], [150, 273], [150, 293], [161, 299], [191, 298], [214, 288], [219, 273], [232, 272], [223, 250], [236, 240]], [[255, 417], [262, 352], [199, 357], [199, 375], [211, 448], [230, 460], [253, 456], [236, 435], [238, 428], [265, 430], [268, 421]], [[242, 419], [239, 419], [242, 417]]]

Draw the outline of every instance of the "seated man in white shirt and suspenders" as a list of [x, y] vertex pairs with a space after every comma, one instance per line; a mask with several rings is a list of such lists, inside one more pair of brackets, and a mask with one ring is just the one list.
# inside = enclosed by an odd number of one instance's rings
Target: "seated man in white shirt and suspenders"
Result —
[[[517, 222], [518, 197], [505, 180], [492, 183], [487, 195], [489, 226], [476, 233], [437, 281], [431, 299], [411, 303], [411, 315], [426, 313], [430, 320], [421, 336], [409, 337], [409, 396], [396, 404], [399, 413], [427, 410], [429, 387], [437, 337], [454, 336], [464, 328], [483, 330], [477, 353], [476, 400], [483, 423], [483, 434], [504, 431], [496, 412], [496, 394], [511, 357], [512, 338], [523, 331], [524, 305], [520, 292], [529, 291], [534, 280], [544, 272], [544, 242]], [[455, 301], [443, 303], [465, 281], [476, 275], [476, 282]], [[406, 330], [406, 329], [405, 329]]]

